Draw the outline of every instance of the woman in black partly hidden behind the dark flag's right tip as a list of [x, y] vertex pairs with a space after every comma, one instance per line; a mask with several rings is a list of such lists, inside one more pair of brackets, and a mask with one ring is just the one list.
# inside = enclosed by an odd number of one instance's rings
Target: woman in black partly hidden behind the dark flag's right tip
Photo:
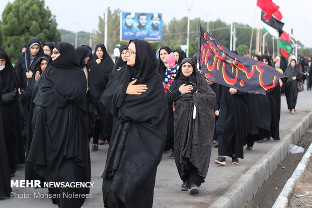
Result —
[[[267, 54], [261, 55], [260, 61], [273, 67], [270, 57]], [[276, 83], [276, 86], [271, 91], [267, 91], [267, 96], [270, 102], [270, 115], [271, 115], [270, 135], [267, 136], [267, 140], [270, 140], [271, 137], [274, 140], [279, 140], [279, 119], [281, 115], [281, 89], [278, 81]]]

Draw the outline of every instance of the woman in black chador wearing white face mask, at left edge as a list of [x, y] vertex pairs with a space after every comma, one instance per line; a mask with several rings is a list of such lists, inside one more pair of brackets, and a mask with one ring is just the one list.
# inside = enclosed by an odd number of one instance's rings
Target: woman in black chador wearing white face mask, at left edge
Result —
[[10, 174], [16, 171], [17, 164], [25, 163], [25, 151], [22, 142], [21, 113], [18, 99], [18, 78], [10, 58], [0, 49], [3, 127], [7, 145]]

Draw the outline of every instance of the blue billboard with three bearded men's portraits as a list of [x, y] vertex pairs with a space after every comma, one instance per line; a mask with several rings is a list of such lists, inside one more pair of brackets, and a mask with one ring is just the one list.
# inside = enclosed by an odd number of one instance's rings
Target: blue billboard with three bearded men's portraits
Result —
[[122, 12], [120, 15], [120, 40], [132, 39], [150, 42], [162, 41], [162, 14]]

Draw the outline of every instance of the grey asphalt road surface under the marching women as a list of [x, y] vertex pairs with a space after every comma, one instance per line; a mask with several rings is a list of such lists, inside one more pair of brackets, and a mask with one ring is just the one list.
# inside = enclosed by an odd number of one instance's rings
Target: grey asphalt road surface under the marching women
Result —
[[[281, 97], [281, 119], [280, 134], [281, 138], [289, 133], [290, 129], [300, 122], [301, 118], [311, 111], [312, 91], [303, 91], [298, 94], [296, 114], [288, 113], [286, 98]], [[232, 185], [236, 184], [238, 179], [248, 171], [260, 158], [262, 158], [269, 149], [280, 142], [265, 141], [262, 144], [255, 144], [252, 151], [245, 151], [243, 160], [239, 165], [232, 165], [230, 158], [226, 158], [227, 165], [219, 166], [213, 163], [217, 158], [217, 149], [213, 148], [210, 168], [206, 182], [200, 187], [198, 195], [189, 195], [180, 191], [182, 181], [176, 170], [174, 159], [170, 159], [170, 153], [163, 155], [162, 162], [159, 165], [155, 189], [154, 189], [154, 208], [183, 208], [183, 207], [209, 207], [220, 196], [222, 196]], [[91, 188], [92, 198], [87, 199], [83, 207], [103, 207], [102, 199], [102, 180], [101, 174], [104, 170], [108, 145], [100, 146], [99, 151], [91, 152], [92, 178], [95, 187]], [[14, 180], [24, 179], [24, 166], [18, 166]], [[47, 192], [47, 189], [34, 188], [13, 188], [16, 193]], [[143, 197], [143, 196], [142, 196]], [[233, 202], [232, 206], [235, 206]], [[49, 198], [8, 198], [0, 199], [0, 207], [57, 207], [51, 203]]]

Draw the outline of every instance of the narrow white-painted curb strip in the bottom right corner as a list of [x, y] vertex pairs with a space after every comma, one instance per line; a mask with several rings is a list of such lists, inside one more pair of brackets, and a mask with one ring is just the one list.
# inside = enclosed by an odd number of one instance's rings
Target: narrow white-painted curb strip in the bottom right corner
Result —
[[305, 172], [306, 172], [306, 169], [307, 169], [307, 166], [309, 164], [311, 157], [312, 157], [312, 143], [310, 144], [309, 148], [305, 152], [297, 168], [292, 173], [291, 177], [287, 180], [283, 190], [277, 197], [272, 208], [288, 207], [288, 199], [291, 197], [291, 194], [296, 185], [296, 182], [305, 175]]

